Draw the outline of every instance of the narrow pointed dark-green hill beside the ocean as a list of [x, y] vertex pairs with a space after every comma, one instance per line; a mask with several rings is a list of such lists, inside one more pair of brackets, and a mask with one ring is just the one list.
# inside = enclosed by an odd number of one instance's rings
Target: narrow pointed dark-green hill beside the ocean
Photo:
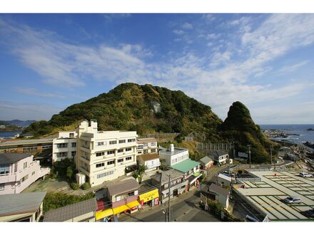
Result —
[[263, 135], [250, 117], [248, 108], [239, 101], [231, 105], [220, 130], [222, 137], [235, 141], [236, 150], [240, 152], [248, 152], [247, 145], [251, 145], [252, 162], [270, 162], [270, 145], [275, 147], [274, 154], [278, 147], [278, 144]]

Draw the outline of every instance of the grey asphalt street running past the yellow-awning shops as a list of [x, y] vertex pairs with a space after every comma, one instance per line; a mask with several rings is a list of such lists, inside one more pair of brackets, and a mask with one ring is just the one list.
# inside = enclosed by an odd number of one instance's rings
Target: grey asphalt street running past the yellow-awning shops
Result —
[[[204, 184], [216, 180], [216, 174], [226, 170], [228, 166], [213, 167], [208, 171]], [[200, 206], [200, 187], [186, 192], [180, 197], [171, 199], [171, 221], [219, 221], [215, 216], [204, 211]], [[168, 209], [168, 203], [157, 207], [144, 209], [134, 214], [122, 214], [118, 221], [166, 221], [163, 213]]]

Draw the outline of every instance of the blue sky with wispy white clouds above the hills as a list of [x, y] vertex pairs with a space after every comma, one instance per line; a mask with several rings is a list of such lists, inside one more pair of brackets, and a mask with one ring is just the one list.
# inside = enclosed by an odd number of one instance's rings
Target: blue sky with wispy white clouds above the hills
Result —
[[49, 120], [125, 82], [225, 119], [314, 122], [314, 14], [0, 14], [0, 120]]

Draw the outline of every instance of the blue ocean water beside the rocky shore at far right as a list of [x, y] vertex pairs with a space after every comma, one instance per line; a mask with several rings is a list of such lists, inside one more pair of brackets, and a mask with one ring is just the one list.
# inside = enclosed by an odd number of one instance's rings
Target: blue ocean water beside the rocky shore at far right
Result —
[[310, 141], [314, 142], [314, 131], [307, 130], [309, 128], [314, 129], [314, 124], [309, 125], [260, 125], [262, 130], [281, 130], [285, 134], [296, 134], [289, 135], [287, 138], [273, 138], [275, 140], [288, 140], [297, 144], [302, 144], [304, 142]]

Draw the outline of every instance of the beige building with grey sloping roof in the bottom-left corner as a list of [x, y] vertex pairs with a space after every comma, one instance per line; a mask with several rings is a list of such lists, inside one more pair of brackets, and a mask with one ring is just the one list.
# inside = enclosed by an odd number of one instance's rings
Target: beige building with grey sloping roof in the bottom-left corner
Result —
[[46, 192], [0, 195], [0, 222], [38, 222]]

